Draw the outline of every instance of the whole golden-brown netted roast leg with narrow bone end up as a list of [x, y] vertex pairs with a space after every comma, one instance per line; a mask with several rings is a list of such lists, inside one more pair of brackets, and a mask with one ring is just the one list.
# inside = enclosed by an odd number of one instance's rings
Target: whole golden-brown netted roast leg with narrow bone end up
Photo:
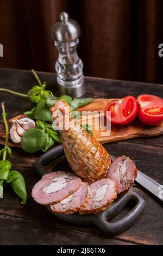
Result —
[[50, 111], [73, 172], [89, 184], [105, 178], [111, 160], [102, 144], [71, 118], [71, 108], [64, 100], [58, 100]]

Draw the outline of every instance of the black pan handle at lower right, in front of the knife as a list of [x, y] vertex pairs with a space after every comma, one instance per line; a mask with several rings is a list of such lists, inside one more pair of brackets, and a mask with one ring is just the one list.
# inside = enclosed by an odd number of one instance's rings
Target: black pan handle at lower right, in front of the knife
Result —
[[[129, 200], [135, 202], [134, 208], [123, 218], [121, 218], [121, 220], [116, 222], [108, 222], [107, 220], [117, 215], [118, 212], [120, 212], [124, 206], [127, 205]], [[145, 208], [145, 204], [145, 200], [131, 189], [124, 194], [124, 196], [122, 195], [117, 202], [112, 203], [107, 210], [97, 214], [98, 221], [96, 221], [95, 224], [99, 229], [105, 233], [108, 233], [108, 235], [116, 235], [129, 228], [139, 219], [143, 209]]]

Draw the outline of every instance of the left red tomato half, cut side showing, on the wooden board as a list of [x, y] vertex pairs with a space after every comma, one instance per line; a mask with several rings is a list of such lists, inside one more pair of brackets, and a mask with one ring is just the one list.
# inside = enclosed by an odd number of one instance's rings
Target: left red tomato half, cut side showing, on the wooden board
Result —
[[113, 100], [105, 107], [105, 117], [113, 124], [130, 124], [135, 119], [136, 114], [137, 102], [134, 96]]

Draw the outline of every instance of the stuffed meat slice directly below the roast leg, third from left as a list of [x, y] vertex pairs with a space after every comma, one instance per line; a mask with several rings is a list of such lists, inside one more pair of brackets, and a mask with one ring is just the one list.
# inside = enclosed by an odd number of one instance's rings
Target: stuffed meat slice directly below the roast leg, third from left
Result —
[[96, 214], [104, 211], [117, 197], [114, 181], [98, 180], [90, 185], [91, 197], [86, 207], [79, 209], [80, 214]]

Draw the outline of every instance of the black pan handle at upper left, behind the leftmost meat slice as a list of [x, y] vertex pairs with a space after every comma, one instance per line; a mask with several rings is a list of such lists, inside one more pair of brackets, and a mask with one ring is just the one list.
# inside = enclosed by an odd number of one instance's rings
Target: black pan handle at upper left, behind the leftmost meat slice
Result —
[[[64, 155], [63, 145], [58, 145], [57, 147], [48, 150], [46, 153], [40, 156], [34, 163], [34, 167], [37, 173], [41, 176], [48, 173], [46, 165], [52, 160], [58, 160], [55, 164], [57, 165], [59, 163], [59, 157], [61, 157], [62, 155]], [[52, 170], [50, 172], [52, 172]]]

